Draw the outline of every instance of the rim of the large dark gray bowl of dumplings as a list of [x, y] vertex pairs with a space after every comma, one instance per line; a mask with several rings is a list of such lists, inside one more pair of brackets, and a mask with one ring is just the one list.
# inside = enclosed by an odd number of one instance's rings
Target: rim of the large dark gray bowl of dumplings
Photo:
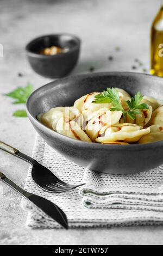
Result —
[[71, 80], [73, 78], [87, 78], [87, 77], [96, 77], [96, 76], [103, 76], [103, 75], [116, 75], [116, 74], [123, 74], [123, 75], [140, 75], [140, 76], [152, 76], [155, 77], [156, 79], [161, 79], [161, 77], [158, 76], [153, 76], [153, 75], [149, 75], [149, 74], [143, 74], [143, 73], [138, 73], [138, 72], [128, 72], [128, 71], [110, 71], [110, 72], [95, 72], [93, 74], [81, 74], [81, 75], [73, 75], [73, 76], [68, 76], [68, 77], [64, 77], [64, 78], [58, 78], [52, 82], [49, 82], [47, 84], [45, 84], [44, 86], [39, 87], [38, 89], [34, 90], [34, 92], [28, 97], [28, 100], [26, 102], [26, 109], [27, 109], [27, 115], [29, 119], [32, 119], [33, 122], [36, 125], [41, 126], [41, 129], [45, 132], [48, 133], [49, 136], [53, 137], [54, 135], [57, 136], [58, 138], [64, 139], [67, 143], [73, 143], [74, 146], [79, 146], [79, 145], [83, 145], [85, 148], [94, 148], [94, 149], [101, 149], [101, 150], [106, 150], [106, 149], [120, 149], [121, 150], [143, 150], [143, 149], [148, 149], [149, 147], [151, 148], [156, 148], [156, 146], [158, 147], [162, 147], [163, 146], [163, 140], [158, 141], [158, 142], [152, 142], [152, 143], [146, 143], [146, 144], [129, 144], [129, 145], [112, 145], [112, 144], [102, 144], [102, 143], [90, 143], [90, 142], [84, 142], [84, 141], [79, 141], [78, 139], [74, 139], [74, 138], [70, 138], [67, 137], [65, 135], [61, 135], [60, 133], [58, 133], [57, 131], [51, 130], [49, 127], [47, 127], [46, 125], [40, 123], [39, 120], [36, 119], [36, 117], [34, 117], [34, 115], [29, 111], [29, 105], [30, 105], [30, 99], [32, 99], [32, 97], [39, 92], [39, 90], [42, 90], [42, 88], [47, 87], [47, 86], [51, 86], [52, 83], [61, 83], [62, 81], [66, 81]]

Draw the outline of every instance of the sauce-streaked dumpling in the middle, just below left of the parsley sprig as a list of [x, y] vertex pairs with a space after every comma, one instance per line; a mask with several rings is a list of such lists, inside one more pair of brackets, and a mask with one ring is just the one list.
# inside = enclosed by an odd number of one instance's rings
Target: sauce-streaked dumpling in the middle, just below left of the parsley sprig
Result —
[[101, 136], [105, 130], [114, 124], [117, 124], [122, 115], [122, 111], [103, 111], [100, 115], [92, 118], [86, 126], [86, 133], [92, 141]]

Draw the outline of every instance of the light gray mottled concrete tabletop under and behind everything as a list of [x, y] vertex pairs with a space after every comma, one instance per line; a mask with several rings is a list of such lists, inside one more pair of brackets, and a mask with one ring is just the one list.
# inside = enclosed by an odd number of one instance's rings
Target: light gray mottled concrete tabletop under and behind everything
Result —
[[[34, 84], [35, 89], [50, 80], [36, 75], [24, 53], [26, 43], [37, 35], [69, 32], [82, 39], [80, 61], [73, 74], [96, 71], [132, 71], [134, 59], [149, 68], [149, 32], [159, 9], [159, 0], [1, 0], [0, 44], [0, 135], [1, 140], [31, 155], [35, 131], [27, 118], [14, 118], [20, 106], [4, 93]], [[121, 47], [115, 51], [115, 47]], [[108, 56], [114, 60], [108, 61]], [[23, 77], [18, 77], [18, 72]], [[23, 108], [23, 106], [21, 106]], [[0, 152], [0, 168], [23, 186], [28, 164]], [[32, 230], [20, 208], [21, 197], [0, 184], [1, 245], [162, 245], [163, 227], [131, 227], [80, 230]]]

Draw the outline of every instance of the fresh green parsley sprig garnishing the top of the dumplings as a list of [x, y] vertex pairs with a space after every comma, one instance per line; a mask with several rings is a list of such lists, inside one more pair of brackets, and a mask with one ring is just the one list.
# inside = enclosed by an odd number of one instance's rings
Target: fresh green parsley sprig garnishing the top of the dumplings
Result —
[[120, 96], [118, 94], [117, 88], [107, 88], [99, 95], [95, 96], [95, 100], [92, 103], [111, 103], [112, 107], [110, 111], [122, 111], [124, 122], [126, 122], [127, 115], [131, 119], [135, 119], [136, 114], [140, 114], [139, 109], [149, 109], [146, 103], [141, 103], [143, 96], [140, 92], [137, 92], [134, 97], [131, 97], [131, 100], [126, 101], [128, 109], [124, 109], [121, 105]]

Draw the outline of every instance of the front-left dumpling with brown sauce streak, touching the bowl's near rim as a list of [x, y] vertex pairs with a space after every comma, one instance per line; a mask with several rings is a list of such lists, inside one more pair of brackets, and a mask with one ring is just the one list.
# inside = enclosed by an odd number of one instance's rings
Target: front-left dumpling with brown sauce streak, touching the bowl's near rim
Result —
[[79, 141], [91, 142], [91, 139], [74, 120], [65, 121], [64, 118], [60, 118], [57, 123], [57, 132]]

